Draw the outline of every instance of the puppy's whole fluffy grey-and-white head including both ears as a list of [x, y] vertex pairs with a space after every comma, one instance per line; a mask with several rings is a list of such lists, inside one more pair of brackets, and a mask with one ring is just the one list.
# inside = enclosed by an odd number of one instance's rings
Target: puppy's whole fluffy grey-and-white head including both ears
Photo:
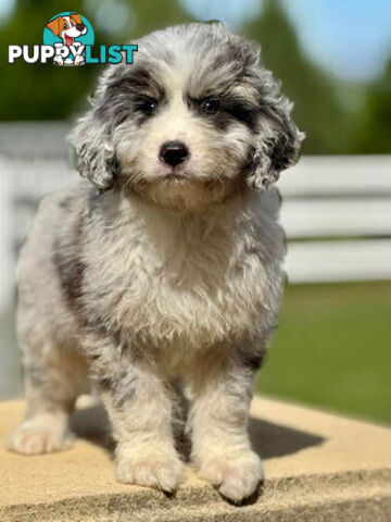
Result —
[[161, 207], [197, 210], [266, 189], [303, 135], [258, 49], [222, 24], [152, 33], [101, 77], [73, 142], [79, 171]]

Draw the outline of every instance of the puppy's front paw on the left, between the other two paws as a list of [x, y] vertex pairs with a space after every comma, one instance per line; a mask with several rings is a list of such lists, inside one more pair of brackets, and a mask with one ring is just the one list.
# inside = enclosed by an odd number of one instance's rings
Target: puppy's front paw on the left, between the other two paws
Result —
[[116, 477], [125, 484], [173, 492], [184, 480], [184, 464], [175, 455], [144, 451], [117, 459]]

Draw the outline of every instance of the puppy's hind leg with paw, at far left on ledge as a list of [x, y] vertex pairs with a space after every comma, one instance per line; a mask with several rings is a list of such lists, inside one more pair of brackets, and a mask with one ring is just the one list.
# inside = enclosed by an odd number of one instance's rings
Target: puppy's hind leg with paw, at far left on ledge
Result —
[[8, 448], [25, 455], [49, 453], [71, 446], [70, 417], [85, 384], [85, 361], [74, 350], [47, 341], [25, 353], [27, 408]]

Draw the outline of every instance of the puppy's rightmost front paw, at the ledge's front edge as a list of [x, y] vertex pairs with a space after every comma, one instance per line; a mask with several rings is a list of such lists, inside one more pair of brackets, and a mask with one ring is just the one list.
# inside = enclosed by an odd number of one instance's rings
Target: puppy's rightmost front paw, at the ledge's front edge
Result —
[[260, 457], [253, 451], [239, 455], [211, 456], [202, 460], [200, 475], [229, 500], [239, 504], [250, 497], [264, 477]]

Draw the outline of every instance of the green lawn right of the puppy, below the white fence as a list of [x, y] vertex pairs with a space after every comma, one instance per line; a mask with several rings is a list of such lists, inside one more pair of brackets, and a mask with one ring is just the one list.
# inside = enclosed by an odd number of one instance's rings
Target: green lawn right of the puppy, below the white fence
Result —
[[391, 282], [287, 287], [256, 390], [390, 423]]

